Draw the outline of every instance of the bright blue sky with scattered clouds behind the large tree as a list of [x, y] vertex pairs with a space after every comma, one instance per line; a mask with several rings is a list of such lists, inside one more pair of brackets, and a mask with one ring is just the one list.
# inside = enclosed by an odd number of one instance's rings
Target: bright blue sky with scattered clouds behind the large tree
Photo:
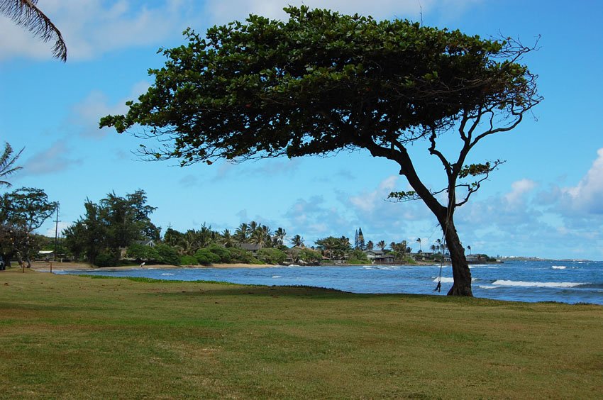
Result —
[[[62, 31], [64, 64], [50, 43], [0, 16], [0, 143], [23, 150], [18, 187], [44, 189], [60, 202], [59, 228], [84, 214], [84, 201], [143, 189], [164, 230], [233, 230], [258, 221], [306, 245], [329, 235], [351, 240], [409, 241], [426, 250], [441, 238], [418, 201], [392, 203], [408, 190], [394, 162], [365, 151], [333, 157], [260, 160], [179, 167], [132, 153], [140, 140], [98, 128], [99, 118], [127, 111], [153, 84], [149, 68], [165, 62], [158, 48], [184, 44], [188, 26], [204, 32], [250, 13], [284, 18], [291, 0], [40, 0]], [[544, 101], [510, 133], [472, 150], [476, 162], [506, 160], [455, 213], [463, 245], [501, 256], [603, 260], [603, 2], [598, 0], [306, 0], [310, 7], [406, 18], [482, 37], [512, 36], [534, 45], [524, 63], [538, 74]], [[295, 5], [295, 4], [294, 4]], [[299, 5], [299, 4], [298, 4]], [[411, 155], [430, 187], [443, 179], [427, 143]], [[452, 146], [448, 149], [453, 152]], [[11, 189], [0, 189], [6, 191]], [[39, 233], [54, 236], [47, 221]]]

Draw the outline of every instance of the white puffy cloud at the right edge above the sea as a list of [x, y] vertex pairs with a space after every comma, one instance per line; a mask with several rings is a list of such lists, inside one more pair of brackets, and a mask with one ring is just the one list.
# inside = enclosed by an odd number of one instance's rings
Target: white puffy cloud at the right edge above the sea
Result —
[[603, 148], [597, 150], [597, 159], [575, 187], [561, 189], [563, 205], [582, 213], [603, 213]]

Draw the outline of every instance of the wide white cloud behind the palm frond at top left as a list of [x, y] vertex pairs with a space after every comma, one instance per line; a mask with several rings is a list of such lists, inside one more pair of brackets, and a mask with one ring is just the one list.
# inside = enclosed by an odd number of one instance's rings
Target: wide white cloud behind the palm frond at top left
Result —
[[[141, 4], [142, 3], [142, 4]], [[46, 0], [38, 4], [67, 43], [68, 60], [88, 60], [111, 50], [160, 44], [189, 25], [185, 0]], [[49, 59], [52, 43], [42, 43], [4, 16], [0, 23], [0, 60]]]

